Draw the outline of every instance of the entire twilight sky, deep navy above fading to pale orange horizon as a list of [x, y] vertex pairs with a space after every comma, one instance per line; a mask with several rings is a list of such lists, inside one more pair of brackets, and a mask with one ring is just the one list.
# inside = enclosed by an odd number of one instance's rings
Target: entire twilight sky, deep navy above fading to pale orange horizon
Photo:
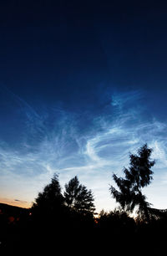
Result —
[[0, 202], [31, 207], [58, 173], [117, 206], [112, 175], [153, 149], [143, 192], [167, 208], [167, 3], [1, 1]]

